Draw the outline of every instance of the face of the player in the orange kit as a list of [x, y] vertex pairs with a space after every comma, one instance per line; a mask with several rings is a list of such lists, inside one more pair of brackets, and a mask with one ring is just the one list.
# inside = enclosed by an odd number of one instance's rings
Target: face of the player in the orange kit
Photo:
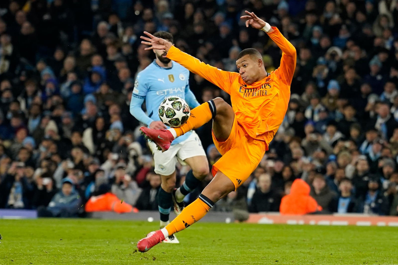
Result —
[[260, 67], [264, 67], [261, 59], [254, 59], [250, 55], [245, 55], [236, 60], [236, 67], [242, 80], [251, 85], [258, 81], [260, 74]]

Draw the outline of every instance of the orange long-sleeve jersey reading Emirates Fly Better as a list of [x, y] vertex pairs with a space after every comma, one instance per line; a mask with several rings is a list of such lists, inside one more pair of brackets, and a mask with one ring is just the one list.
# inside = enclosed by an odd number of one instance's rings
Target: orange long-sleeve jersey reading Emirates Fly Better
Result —
[[296, 67], [296, 49], [276, 27], [267, 33], [282, 50], [281, 64], [263, 80], [246, 84], [239, 73], [217, 69], [171, 47], [167, 57], [230, 94], [238, 123], [252, 138], [267, 145], [285, 117], [290, 99], [290, 84]]

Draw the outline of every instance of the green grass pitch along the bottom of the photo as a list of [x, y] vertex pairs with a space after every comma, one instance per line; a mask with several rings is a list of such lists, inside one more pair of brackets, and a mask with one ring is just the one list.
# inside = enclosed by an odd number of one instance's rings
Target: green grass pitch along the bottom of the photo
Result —
[[181, 244], [135, 243], [157, 222], [0, 220], [0, 264], [398, 264], [394, 227], [197, 223]]

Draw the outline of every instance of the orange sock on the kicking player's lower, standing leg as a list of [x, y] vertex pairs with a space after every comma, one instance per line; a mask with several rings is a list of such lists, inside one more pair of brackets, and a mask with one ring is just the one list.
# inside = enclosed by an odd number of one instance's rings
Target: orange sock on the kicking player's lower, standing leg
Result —
[[184, 230], [191, 224], [199, 221], [203, 216], [207, 214], [214, 203], [207, 197], [199, 195], [199, 198], [193, 201], [190, 205], [185, 207], [182, 212], [172, 220], [170, 224], [166, 226], [166, 230], [169, 235]]

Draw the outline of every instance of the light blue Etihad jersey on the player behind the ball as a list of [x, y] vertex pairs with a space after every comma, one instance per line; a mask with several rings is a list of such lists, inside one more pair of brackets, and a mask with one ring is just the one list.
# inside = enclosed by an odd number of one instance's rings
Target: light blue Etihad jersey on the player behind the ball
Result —
[[[171, 96], [185, 99], [191, 108], [199, 106], [195, 95], [189, 89], [189, 70], [176, 62], [172, 62], [170, 68], [162, 68], [154, 60], [137, 75], [130, 102], [130, 113], [149, 126], [152, 121], [160, 121], [159, 105], [163, 99]], [[141, 109], [144, 100], [148, 115]], [[189, 135], [191, 132], [179, 136], [172, 145], [186, 140]]]

